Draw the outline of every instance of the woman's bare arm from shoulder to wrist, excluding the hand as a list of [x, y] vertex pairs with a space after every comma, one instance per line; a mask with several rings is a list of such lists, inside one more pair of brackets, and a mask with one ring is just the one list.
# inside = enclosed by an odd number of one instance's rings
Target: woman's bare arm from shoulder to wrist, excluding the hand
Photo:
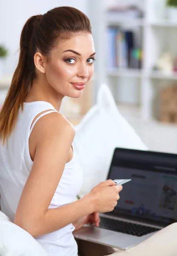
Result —
[[75, 131], [59, 113], [42, 117], [33, 128], [36, 151], [24, 186], [14, 223], [32, 236], [41, 236], [67, 226], [93, 212], [89, 196], [71, 204], [48, 209], [64, 171]]

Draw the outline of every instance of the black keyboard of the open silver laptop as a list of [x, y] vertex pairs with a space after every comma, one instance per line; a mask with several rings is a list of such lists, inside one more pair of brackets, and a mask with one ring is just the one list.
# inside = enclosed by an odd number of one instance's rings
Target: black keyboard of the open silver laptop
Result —
[[142, 226], [139, 224], [133, 224], [125, 221], [119, 221], [110, 218], [100, 217], [99, 227], [113, 230], [121, 233], [126, 233], [133, 236], [144, 236], [151, 232], [158, 231], [159, 229], [154, 227]]

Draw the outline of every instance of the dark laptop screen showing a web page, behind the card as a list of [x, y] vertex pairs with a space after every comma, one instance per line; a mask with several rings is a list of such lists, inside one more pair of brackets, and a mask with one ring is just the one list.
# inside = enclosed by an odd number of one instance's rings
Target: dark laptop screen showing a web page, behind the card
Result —
[[112, 214], [162, 226], [177, 221], [176, 154], [116, 148], [107, 179], [132, 179]]

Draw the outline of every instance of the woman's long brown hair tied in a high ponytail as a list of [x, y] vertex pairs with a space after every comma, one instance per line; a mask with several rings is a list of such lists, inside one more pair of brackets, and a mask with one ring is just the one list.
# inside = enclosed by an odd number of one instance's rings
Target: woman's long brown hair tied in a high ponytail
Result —
[[40, 51], [47, 59], [60, 40], [66, 40], [77, 32], [89, 32], [88, 17], [78, 9], [68, 6], [49, 10], [44, 15], [30, 17], [20, 36], [20, 55], [12, 83], [0, 111], [0, 140], [3, 143], [12, 133], [19, 109], [36, 78], [34, 55]]

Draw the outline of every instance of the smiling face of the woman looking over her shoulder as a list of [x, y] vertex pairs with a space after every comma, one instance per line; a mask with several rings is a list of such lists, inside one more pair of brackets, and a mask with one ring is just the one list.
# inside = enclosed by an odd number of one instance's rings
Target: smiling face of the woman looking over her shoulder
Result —
[[46, 79], [61, 95], [78, 98], [93, 76], [95, 49], [90, 33], [79, 33], [62, 41], [51, 52]]

